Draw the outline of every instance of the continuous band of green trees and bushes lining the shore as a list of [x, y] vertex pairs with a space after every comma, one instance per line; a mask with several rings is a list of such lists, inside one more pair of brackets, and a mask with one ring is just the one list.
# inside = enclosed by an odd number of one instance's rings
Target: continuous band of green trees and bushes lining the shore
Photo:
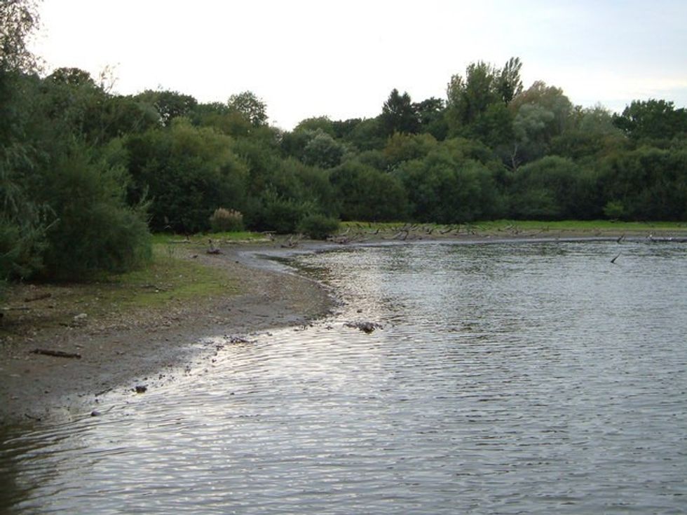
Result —
[[204, 104], [107, 76], [39, 73], [31, 0], [0, 4], [0, 275], [88, 277], [150, 254], [149, 231], [193, 233], [219, 207], [247, 228], [332, 219], [687, 219], [687, 111], [574, 106], [521, 62], [451, 77], [445, 99], [393, 90], [374, 118], [283, 131], [252, 92]]

